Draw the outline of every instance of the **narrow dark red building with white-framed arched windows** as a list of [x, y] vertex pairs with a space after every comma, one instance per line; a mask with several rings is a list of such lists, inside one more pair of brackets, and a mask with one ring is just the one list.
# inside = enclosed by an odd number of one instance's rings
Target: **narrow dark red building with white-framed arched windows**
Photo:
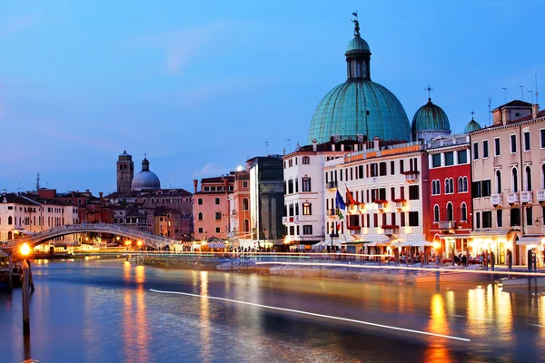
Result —
[[443, 257], [471, 253], [470, 137], [454, 135], [428, 143], [431, 236]]

